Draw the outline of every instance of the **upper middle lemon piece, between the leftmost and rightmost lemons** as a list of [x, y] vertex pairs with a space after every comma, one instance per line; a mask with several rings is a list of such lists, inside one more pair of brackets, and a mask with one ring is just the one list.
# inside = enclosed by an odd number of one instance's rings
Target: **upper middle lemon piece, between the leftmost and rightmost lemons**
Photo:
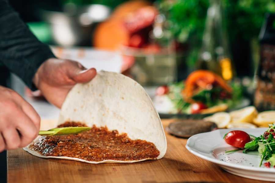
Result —
[[248, 106], [243, 109], [232, 111], [229, 114], [231, 123], [252, 123], [257, 113], [254, 106]]

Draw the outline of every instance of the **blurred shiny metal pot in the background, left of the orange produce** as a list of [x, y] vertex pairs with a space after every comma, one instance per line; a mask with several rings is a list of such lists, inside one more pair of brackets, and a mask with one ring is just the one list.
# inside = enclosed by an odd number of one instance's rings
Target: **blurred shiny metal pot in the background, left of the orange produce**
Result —
[[105, 5], [76, 6], [68, 3], [63, 12], [40, 10], [40, 16], [50, 24], [53, 41], [62, 46], [88, 46], [97, 23], [111, 14]]

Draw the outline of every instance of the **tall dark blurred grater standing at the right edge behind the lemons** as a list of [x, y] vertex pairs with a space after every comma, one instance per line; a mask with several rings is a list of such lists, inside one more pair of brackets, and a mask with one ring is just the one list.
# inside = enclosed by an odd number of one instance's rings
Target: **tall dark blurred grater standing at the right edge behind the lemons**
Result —
[[267, 14], [259, 35], [260, 60], [254, 105], [258, 111], [275, 110], [275, 14]]

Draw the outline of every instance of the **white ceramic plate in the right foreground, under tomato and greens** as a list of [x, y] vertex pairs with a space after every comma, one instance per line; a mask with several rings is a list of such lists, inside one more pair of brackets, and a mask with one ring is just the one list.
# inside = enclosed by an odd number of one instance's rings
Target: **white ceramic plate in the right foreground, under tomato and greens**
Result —
[[244, 154], [242, 151], [226, 154], [226, 150], [236, 149], [223, 139], [223, 136], [232, 130], [242, 130], [250, 135], [259, 136], [267, 128], [256, 129], [221, 129], [207, 133], [201, 133], [190, 137], [186, 148], [194, 155], [217, 163], [229, 173], [245, 178], [261, 181], [275, 181], [275, 168], [259, 167], [260, 155], [258, 152]]

